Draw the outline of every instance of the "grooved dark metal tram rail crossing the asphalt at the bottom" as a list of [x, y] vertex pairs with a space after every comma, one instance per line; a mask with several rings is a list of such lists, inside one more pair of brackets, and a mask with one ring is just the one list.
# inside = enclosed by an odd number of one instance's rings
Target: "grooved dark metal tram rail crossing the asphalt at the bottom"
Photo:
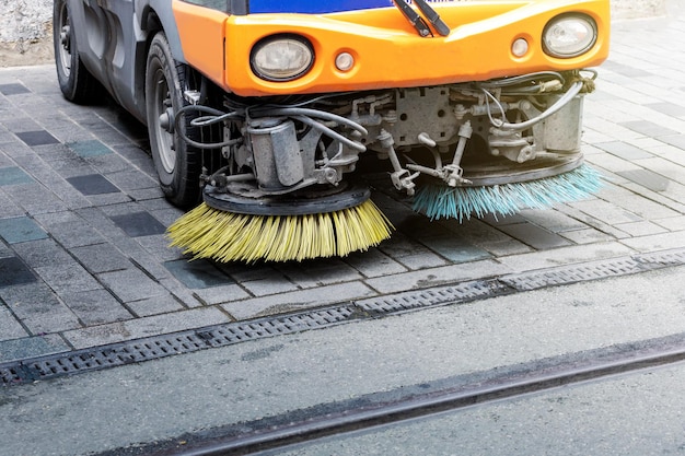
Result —
[[[272, 455], [305, 447], [324, 437], [400, 424], [488, 402], [515, 399], [553, 388], [579, 385], [623, 374], [646, 372], [685, 361], [685, 334], [639, 343], [536, 360], [492, 371], [465, 374], [373, 393], [353, 399], [266, 417], [182, 435], [98, 456]], [[179, 443], [183, 442], [183, 443]]]

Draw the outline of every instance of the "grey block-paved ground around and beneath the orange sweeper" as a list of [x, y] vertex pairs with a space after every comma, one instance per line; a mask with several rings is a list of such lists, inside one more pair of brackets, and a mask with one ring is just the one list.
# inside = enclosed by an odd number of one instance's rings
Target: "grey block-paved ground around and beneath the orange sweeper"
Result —
[[595, 198], [460, 224], [378, 191], [390, 241], [301, 264], [188, 261], [167, 246], [182, 212], [146, 129], [106, 100], [66, 102], [51, 66], [0, 69], [0, 363], [685, 247], [684, 17], [615, 26], [585, 100], [584, 151], [607, 178]]

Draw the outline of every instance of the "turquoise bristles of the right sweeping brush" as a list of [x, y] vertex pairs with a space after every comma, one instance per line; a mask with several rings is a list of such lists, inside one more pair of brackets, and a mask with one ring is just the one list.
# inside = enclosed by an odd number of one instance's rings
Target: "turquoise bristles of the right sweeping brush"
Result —
[[488, 213], [512, 215], [523, 209], [547, 209], [558, 202], [588, 198], [602, 187], [602, 176], [588, 165], [557, 176], [488, 187], [426, 185], [414, 197], [414, 210], [431, 220], [457, 219]]

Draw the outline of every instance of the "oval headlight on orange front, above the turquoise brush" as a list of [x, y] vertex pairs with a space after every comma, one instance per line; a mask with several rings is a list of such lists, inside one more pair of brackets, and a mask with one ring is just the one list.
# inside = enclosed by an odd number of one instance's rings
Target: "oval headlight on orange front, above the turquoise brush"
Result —
[[585, 14], [562, 14], [549, 21], [543, 32], [545, 52], [568, 59], [578, 57], [594, 46], [597, 25]]

